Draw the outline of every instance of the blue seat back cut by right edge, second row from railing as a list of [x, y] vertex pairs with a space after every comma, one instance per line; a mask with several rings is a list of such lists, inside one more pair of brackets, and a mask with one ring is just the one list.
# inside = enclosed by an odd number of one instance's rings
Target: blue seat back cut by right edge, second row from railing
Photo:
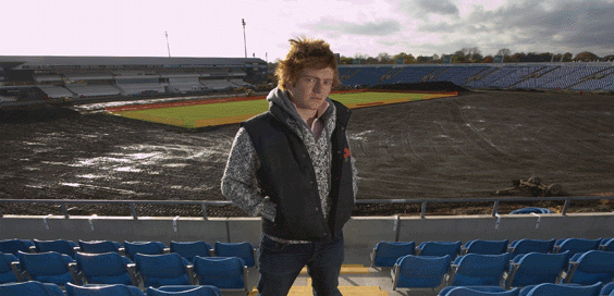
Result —
[[614, 279], [614, 252], [590, 250], [579, 256], [577, 267], [572, 268], [567, 282], [592, 285], [598, 282], [609, 283]]

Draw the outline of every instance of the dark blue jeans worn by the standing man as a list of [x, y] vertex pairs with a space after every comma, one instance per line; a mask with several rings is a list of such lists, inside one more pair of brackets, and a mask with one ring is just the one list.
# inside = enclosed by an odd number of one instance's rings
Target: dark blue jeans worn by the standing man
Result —
[[315, 296], [341, 296], [339, 273], [343, 263], [343, 235], [308, 244], [283, 244], [260, 237], [258, 295], [285, 296], [307, 266]]

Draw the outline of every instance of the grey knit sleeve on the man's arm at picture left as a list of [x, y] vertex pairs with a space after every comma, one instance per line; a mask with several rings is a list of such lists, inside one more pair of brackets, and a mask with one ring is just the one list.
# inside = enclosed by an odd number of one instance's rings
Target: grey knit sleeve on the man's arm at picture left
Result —
[[261, 215], [274, 221], [277, 207], [261, 196], [256, 178], [260, 161], [249, 134], [241, 127], [236, 133], [222, 176], [222, 194], [249, 215]]

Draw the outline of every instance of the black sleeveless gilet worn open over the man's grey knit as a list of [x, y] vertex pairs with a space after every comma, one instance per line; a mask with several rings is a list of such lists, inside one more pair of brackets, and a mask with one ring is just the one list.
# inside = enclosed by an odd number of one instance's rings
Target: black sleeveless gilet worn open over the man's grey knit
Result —
[[354, 209], [351, 151], [345, 127], [351, 111], [340, 102], [332, 133], [331, 209], [324, 220], [311, 159], [300, 137], [284, 122], [288, 114], [277, 104], [242, 123], [260, 160], [257, 171], [262, 196], [277, 205], [275, 221], [262, 219], [262, 232], [294, 240], [339, 236]]

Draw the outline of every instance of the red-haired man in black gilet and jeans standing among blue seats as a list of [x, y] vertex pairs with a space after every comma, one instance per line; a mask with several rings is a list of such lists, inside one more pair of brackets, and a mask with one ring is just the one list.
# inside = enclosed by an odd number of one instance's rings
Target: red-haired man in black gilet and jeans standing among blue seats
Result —
[[345, 134], [351, 111], [328, 97], [340, 84], [330, 46], [305, 37], [290, 42], [269, 111], [236, 134], [222, 194], [262, 217], [259, 295], [287, 295], [305, 266], [314, 295], [341, 295], [342, 230], [356, 196]]

